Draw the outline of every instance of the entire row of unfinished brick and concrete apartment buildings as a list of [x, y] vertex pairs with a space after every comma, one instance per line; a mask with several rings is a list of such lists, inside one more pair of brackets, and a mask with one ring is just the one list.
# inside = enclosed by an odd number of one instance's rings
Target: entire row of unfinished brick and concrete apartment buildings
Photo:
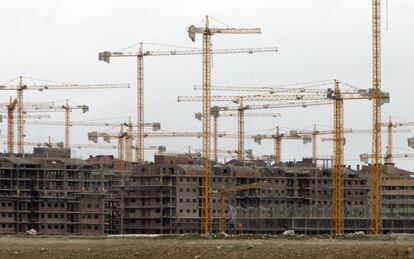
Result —
[[[0, 156], [0, 233], [199, 233], [202, 168], [189, 155], [160, 154], [138, 165], [70, 150], [35, 148], [24, 157]], [[122, 168], [119, 170], [118, 168]], [[414, 232], [413, 173], [385, 165], [384, 231]], [[268, 166], [263, 161], [216, 164], [212, 213], [230, 233], [330, 233], [332, 170], [311, 161]], [[220, 190], [260, 182], [260, 188]], [[369, 228], [369, 167], [345, 168], [346, 231]], [[223, 210], [223, 211], [222, 211]]]

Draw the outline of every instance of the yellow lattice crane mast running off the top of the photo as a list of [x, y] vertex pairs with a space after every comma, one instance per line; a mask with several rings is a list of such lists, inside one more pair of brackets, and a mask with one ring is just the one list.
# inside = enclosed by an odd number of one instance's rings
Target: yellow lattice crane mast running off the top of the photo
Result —
[[372, 167], [370, 232], [382, 234], [382, 154], [381, 154], [381, 1], [372, 0]]

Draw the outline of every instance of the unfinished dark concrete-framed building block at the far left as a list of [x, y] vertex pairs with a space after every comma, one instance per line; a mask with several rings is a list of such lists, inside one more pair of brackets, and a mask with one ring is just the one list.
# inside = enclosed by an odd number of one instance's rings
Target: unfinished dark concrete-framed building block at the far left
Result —
[[105, 198], [118, 176], [37, 151], [29, 158], [0, 157], [0, 233], [104, 234]]

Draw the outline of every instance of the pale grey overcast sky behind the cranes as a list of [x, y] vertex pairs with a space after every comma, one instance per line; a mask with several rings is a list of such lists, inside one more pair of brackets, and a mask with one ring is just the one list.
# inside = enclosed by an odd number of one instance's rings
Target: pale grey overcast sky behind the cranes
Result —
[[[412, 87], [414, 50], [414, 2], [389, 0], [389, 28], [385, 30], [383, 2], [383, 90], [391, 103], [383, 106], [388, 116], [413, 121]], [[131, 89], [93, 91], [26, 92], [26, 101], [63, 101], [87, 104], [90, 112], [74, 111], [73, 120], [136, 117], [136, 61], [98, 61], [98, 52], [119, 50], [144, 41], [188, 47], [201, 47], [201, 38], [191, 42], [187, 26], [200, 25], [212, 17], [235, 27], [260, 27], [261, 35], [217, 35], [215, 48], [279, 47], [278, 53], [214, 56], [213, 83], [268, 86], [338, 78], [352, 85], [371, 87], [371, 1], [368, 0], [273, 0], [273, 1], [105, 1], [105, 0], [0, 0], [0, 82], [19, 75], [74, 83], [129, 82]], [[153, 47], [152, 49], [164, 49]], [[147, 57], [145, 59], [145, 121], [159, 121], [164, 130], [198, 131], [201, 123], [194, 113], [200, 104], [177, 103], [178, 95], [194, 95], [194, 84], [201, 82], [201, 57]], [[219, 92], [220, 94], [224, 94]], [[1, 92], [6, 102], [15, 92]], [[345, 103], [345, 127], [371, 129], [371, 103]], [[269, 111], [271, 112], [271, 111]], [[277, 112], [277, 111], [275, 111]], [[311, 129], [313, 124], [331, 129], [332, 107], [289, 109], [279, 118], [247, 118], [246, 133], [272, 133]], [[63, 121], [63, 114], [52, 120]], [[114, 120], [114, 119], [113, 119]], [[109, 119], [108, 119], [109, 121]], [[236, 118], [221, 119], [220, 129], [236, 132]], [[6, 123], [1, 125], [6, 134]], [[88, 143], [86, 133], [109, 129], [72, 128], [72, 143]], [[63, 141], [63, 127], [27, 126], [27, 140], [52, 135]], [[385, 135], [385, 134], [384, 134]], [[407, 138], [395, 136], [395, 152], [408, 153]], [[166, 145], [169, 151], [201, 147], [200, 139], [146, 139], [147, 145]], [[235, 149], [236, 140], [222, 140], [220, 148]], [[385, 150], [386, 138], [383, 138]], [[269, 154], [273, 141], [262, 145], [246, 140], [246, 148], [256, 154]], [[4, 149], [4, 145], [1, 148]], [[360, 153], [371, 152], [371, 136], [349, 136], [345, 146], [347, 164], [358, 163]], [[114, 150], [115, 153], [116, 150]], [[332, 143], [320, 143], [320, 155], [332, 154]], [[87, 156], [96, 150], [77, 150]], [[107, 151], [106, 153], [109, 153]], [[146, 152], [152, 159], [153, 152]], [[310, 156], [311, 146], [301, 141], [283, 143], [283, 159]], [[414, 170], [412, 160], [397, 165]]]

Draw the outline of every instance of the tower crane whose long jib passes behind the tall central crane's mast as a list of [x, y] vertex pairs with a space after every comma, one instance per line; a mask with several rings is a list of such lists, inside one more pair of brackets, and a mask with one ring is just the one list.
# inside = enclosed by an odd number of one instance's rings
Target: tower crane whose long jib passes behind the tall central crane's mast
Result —
[[[234, 54], [234, 53], [248, 53], [252, 54], [255, 52], [276, 52], [277, 48], [242, 48], [242, 49], [215, 49], [212, 50], [214, 54]], [[142, 147], [144, 145], [144, 57], [147, 56], [190, 56], [200, 55], [203, 52], [199, 49], [188, 49], [188, 50], [161, 50], [161, 51], [149, 51], [144, 50], [144, 43], [139, 43], [139, 50], [137, 52], [129, 51], [103, 51], [99, 52], [99, 60], [109, 63], [111, 58], [118, 57], [136, 57], [137, 58], [137, 152], [136, 160], [138, 163], [144, 162], [144, 152]]]

